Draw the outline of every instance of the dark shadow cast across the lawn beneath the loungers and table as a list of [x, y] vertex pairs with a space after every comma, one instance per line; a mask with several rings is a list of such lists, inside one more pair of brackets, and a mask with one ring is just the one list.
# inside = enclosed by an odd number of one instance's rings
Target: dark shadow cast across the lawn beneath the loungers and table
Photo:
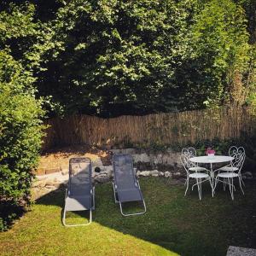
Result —
[[[172, 185], [165, 178], [145, 177], [140, 184], [147, 212], [131, 217], [121, 215], [119, 205], [113, 201], [111, 183], [96, 184], [93, 222], [182, 255], [225, 255], [230, 245], [256, 247], [255, 181], [247, 181], [245, 195], [236, 185], [235, 201], [222, 186], [218, 186], [212, 198], [207, 183], [203, 185], [202, 201], [196, 188], [184, 197], [184, 186]], [[38, 199], [37, 204], [60, 207], [61, 217], [64, 196], [62, 187]], [[134, 204], [125, 206], [128, 212], [139, 209]], [[74, 212], [67, 218], [84, 221], [81, 216], [86, 215]]]

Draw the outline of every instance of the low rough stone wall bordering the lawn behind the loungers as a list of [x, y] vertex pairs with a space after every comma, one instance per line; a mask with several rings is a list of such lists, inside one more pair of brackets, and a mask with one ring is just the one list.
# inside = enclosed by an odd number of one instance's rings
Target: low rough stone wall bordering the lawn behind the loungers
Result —
[[[112, 154], [131, 154], [134, 162], [134, 172], [137, 177], [163, 177], [184, 182], [186, 173], [180, 162], [180, 154], [174, 152], [147, 153], [135, 148], [113, 149]], [[66, 185], [68, 181], [68, 166], [60, 166], [57, 172], [38, 173], [32, 185], [34, 197], [47, 194]], [[42, 175], [44, 174], [44, 175]], [[92, 160], [92, 178], [94, 183], [108, 183], [113, 179], [113, 166], [102, 164], [100, 157]], [[253, 178], [252, 172], [244, 172], [243, 178]]]

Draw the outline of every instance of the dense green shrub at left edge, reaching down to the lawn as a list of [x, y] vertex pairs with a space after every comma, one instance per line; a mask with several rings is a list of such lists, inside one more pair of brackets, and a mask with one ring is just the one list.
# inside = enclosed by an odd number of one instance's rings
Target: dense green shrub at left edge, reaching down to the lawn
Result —
[[0, 51], [0, 230], [30, 201], [44, 128], [32, 81], [8, 50]]

